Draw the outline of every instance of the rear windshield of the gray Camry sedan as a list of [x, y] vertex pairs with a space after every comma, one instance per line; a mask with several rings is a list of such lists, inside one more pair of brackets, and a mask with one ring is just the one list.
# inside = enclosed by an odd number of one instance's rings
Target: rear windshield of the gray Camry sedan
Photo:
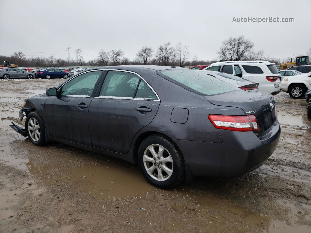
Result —
[[186, 69], [163, 70], [156, 72], [161, 77], [199, 95], [216, 95], [239, 90], [201, 71]]

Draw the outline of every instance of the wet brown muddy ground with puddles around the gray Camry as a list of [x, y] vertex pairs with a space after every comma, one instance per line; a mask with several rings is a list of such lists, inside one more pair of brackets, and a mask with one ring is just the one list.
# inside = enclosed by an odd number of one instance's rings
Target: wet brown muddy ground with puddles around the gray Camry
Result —
[[161, 190], [137, 166], [11, 130], [26, 97], [62, 81], [0, 80], [0, 232], [311, 232], [304, 99], [275, 96], [281, 139], [256, 171]]

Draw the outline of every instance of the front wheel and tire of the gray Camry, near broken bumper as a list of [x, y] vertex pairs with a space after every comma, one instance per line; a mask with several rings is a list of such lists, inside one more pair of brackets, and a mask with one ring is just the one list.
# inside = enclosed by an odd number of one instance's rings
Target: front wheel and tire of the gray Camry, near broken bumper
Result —
[[25, 129], [29, 140], [36, 146], [42, 146], [45, 141], [45, 127], [37, 112], [30, 112], [26, 118]]

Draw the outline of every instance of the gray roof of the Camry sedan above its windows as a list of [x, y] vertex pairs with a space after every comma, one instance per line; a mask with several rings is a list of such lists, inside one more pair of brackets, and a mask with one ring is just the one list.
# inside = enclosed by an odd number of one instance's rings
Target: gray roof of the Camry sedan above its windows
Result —
[[123, 65], [123, 66], [98, 66], [94, 68], [90, 68], [88, 70], [98, 70], [98, 69], [114, 69], [114, 70], [131, 70], [131, 71], [142, 71], [146, 69], [151, 69], [155, 71], [161, 71], [161, 70], [173, 70], [173, 69], [186, 69], [182, 67], [177, 66], [152, 66], [152, 65]]

